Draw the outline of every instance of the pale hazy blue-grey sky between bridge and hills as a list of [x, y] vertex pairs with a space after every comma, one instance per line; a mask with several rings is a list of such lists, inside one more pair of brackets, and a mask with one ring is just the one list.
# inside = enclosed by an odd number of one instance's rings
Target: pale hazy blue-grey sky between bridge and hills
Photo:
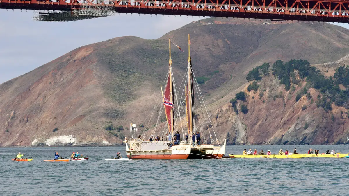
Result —
[[128, 35], [156, 39], [203, 18], [117, 14], [61, 23], [33, 22], [32, 17], [31, 10], [0, 9], [0, 84], [83, 45]]

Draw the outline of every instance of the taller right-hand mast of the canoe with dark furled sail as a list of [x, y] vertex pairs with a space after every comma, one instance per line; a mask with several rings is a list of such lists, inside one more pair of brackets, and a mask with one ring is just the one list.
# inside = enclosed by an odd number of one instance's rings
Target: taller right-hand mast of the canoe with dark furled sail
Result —
[[[190, 57], [190, 35], [188, 35], [188, 92], [186, 94], [186, 109], [187, 109], [187, 122], [188, 122], [188, 134], [193, 133], [194, 125], [194, 88], [193, 88], [193, 76], [192, 76], [192, 65]], [[194, 133], [193, 133], [194, 134]]]

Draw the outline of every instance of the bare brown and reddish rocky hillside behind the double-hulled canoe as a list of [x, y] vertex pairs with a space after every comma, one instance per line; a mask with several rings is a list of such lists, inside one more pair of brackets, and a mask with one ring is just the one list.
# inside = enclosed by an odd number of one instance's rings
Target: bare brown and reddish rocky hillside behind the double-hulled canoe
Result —
[[[304, 97], [296, 103], [296, 93], [285, 92], [272, 77], [263, 80], [261, 99], [260, 92], [248, 92], [247, 114], [236, 114], [229, 100], [245, 90], [247, 72], [262, 62], [302, 58], [320, 65], [340, 60], [349, 53], [349, 30], [327, 23], [209, 18], [157, 40], [128, 36], [83, 46], [1, 84], [0, 146], [120, 145], [129, 135], [129, 119], [144, 123], [140, 132], [146, 131], [156, 122], [148, 119], [168, 70], [168, 38], [185, 50], [172, 47], [179, 82], [187, 66], [188, 33], [195, 75], [207, 78], [200, 87], [221, 140], [345, 143], [343, 108], [333, 106], [332, 113], [326, 113]], [[311, 93], [316, 100], [318, 92]], [[305, 123], [309, 128], [304, 129]]]

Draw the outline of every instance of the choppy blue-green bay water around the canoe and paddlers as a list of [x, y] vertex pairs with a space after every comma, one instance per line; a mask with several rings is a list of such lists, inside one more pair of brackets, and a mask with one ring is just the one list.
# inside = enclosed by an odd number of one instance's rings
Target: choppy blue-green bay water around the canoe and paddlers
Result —
[[[227, 146], [348, 153], [349, 145]], [[43, 162], [54, 151], [87, 161]], [[18, 152], [33, 161], [12, 161]], [[349, 195], [349, 158], [105, 161], [124, 147], [0, 148], [0, 195]]]

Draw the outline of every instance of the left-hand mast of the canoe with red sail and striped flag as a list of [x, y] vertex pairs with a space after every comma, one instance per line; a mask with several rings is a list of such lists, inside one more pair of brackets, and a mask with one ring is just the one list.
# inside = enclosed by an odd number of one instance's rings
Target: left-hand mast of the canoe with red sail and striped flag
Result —
[[[167, 78], [165, 90], [163, 92], [163, 103], [165, 108], [167, 125], [169, 132], [173, 135], [174, 129], [174, 105], [173, 105], [173, 82], [172, 82], [172, 60], [171, 60], [171, 39], [169, 39], [169, 75]], [[162, 91], [162, 88], [161, 88]]]

